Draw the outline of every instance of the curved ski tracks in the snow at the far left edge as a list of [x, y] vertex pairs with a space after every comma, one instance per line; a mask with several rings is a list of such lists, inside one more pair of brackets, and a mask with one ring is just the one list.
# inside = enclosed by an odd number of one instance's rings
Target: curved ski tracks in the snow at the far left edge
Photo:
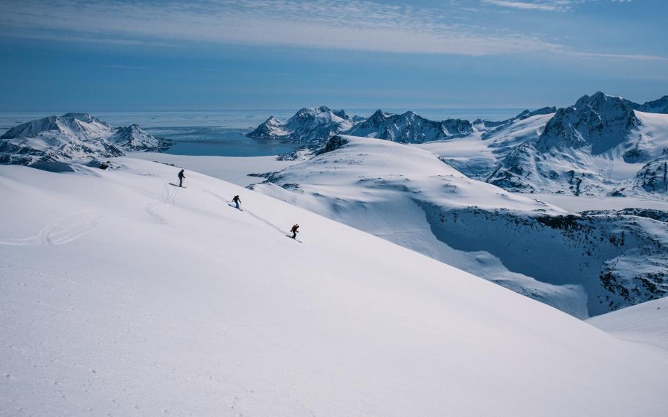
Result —
[[79, 211], [56, 220], [37, 236], [19, 239], [0, 239], [0, 245], [63, 245], [82, 238], [111, 222], [115, 217], [97, 210]]

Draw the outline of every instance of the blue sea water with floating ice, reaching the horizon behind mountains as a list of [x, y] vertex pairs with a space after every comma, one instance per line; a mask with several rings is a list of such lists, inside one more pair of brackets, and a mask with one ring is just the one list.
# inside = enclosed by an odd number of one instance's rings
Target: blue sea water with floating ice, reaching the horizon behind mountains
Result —
[[[347, 110], [352, 115], [368, 117], [375, 109]], [[406, 109], [383, 109], [388, 113], [404, 113]], [[459, 118], [474, 120], [505, 120], [523, 111], [521, 108], [429, 108], [414, 109], [415, 113], [430, 120]], [[296, 109], [242, 110], [242, 111], [90, 111], [111, 126], [138, 124], [142, 129], [161, 138], [172, 140], [175, 145], [166, 151], [177, 155], [207, 156], [267, 156], [291, 152], [299, 144], [281, 140], [257, 140], [247, 138], [269, 116], [287, 120]], [[67, 111], [0, 113], [0, 134], [19, 123], [62, 115]]]

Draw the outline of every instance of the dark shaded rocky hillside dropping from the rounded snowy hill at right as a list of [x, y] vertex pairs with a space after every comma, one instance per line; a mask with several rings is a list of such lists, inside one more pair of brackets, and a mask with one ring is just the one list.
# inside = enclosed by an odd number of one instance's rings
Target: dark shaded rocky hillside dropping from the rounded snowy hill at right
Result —
[[[491, 252], [511, 270], [539, 281], [584, 286], [590, 316], [668, 295], [668, 224], [660, 220], [630, 211], [532, 216], [479, 208], [434, 210], [438, 222], [430, 220], [432, 230], [446, 243]], [[513, 244], [504, 245], [508, 242]], [[550, 259], [526, 256], [537, 251]]]

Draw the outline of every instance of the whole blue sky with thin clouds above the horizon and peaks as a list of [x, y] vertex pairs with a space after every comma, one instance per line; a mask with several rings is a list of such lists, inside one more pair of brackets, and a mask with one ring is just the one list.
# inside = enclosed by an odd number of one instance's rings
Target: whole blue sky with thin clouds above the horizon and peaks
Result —
[[664, 0], [0, 0], [0, 111], [536, 108], [668, 94]]

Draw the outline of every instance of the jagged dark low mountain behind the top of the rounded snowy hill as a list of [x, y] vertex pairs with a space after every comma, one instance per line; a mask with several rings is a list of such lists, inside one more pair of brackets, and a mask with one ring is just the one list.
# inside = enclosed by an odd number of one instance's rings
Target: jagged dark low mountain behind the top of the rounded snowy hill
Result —
[[391, 140], [392, 142], [423, 143], [463, 136], [473, 132], [468, 120], [447, 119], [434, 122], [407, 111], [392, 115], [376, 111], [364, 122], [360, 122], [346, 132], [351, 136]]

